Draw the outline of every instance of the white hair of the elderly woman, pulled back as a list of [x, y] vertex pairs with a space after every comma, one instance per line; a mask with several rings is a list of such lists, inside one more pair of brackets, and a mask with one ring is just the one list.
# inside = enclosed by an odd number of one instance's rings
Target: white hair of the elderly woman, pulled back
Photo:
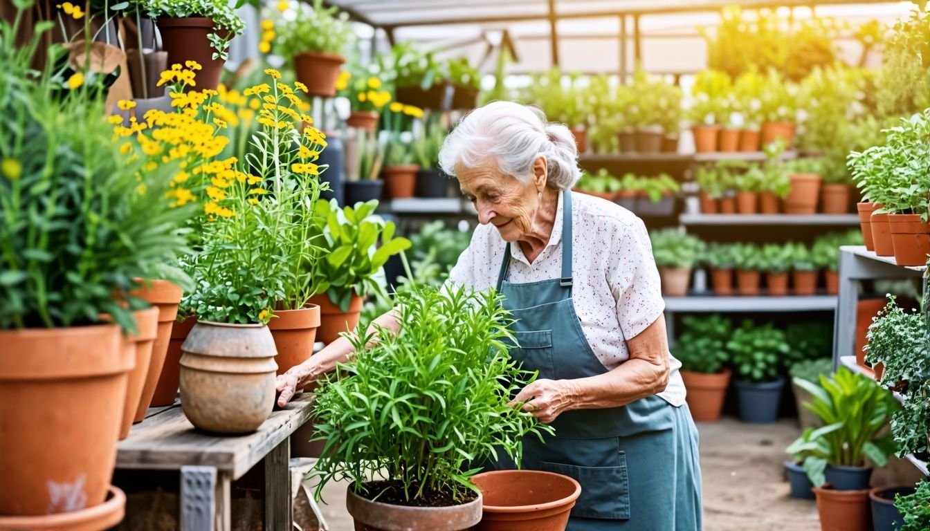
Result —
[[581, 177], [575, 137], [563, 124], [550, 123], [538, 107], [492, 101], [459, 120], [445, 137], [439, 166], [452, 177], [456, 166], [475, 167], [493, 157], [500, 171], [530, 182], [533, 162], [546, 157], [546, 185], [567, 190]]

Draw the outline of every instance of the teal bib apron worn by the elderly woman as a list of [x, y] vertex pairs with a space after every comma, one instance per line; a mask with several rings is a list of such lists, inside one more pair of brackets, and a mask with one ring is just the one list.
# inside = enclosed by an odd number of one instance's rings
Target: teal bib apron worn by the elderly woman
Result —
[[[516, 320], [514, 359], [538, 378], [572, 379], [607, 372], [581, 330], [572, 301], [572, 199], [563, 195], [562, 277], [526, 284], [505, 279], [511, 252], [504, 249], [498, 277], [503, 306]], [[686, 405], [658, 396], [608, 409], [566, 411], [552, 422], [544, 443], [524, 439], [523, 468], [578, 480], [581, 496], [568, 531], [697, 531], [701, 480], [697, 429]], [[495, 463], [512, 469], [507, 459]]]

